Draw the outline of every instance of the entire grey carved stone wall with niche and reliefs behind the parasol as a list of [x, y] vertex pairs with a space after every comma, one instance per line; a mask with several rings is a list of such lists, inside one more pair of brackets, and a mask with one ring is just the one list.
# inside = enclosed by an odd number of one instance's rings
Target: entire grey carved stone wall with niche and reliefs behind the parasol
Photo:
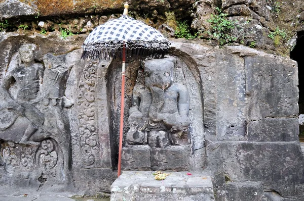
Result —
[[[109, 192], [121, 61], [80, 60], [82, 35], [0, 38], [2, 187]], [[171, 44], [165, 59], [127, 63], [123, 169], [199, 172], [217, 201], [303, 200], [296, 62], [244, 46]]]

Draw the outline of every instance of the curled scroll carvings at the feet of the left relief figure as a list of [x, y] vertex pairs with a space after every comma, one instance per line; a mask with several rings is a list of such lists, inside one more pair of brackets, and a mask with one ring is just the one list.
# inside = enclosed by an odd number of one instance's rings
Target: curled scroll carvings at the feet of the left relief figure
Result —
[[[59, 159], [62, 156], [59, 156], [60, 150], [55, 140], [46, 139], [37, 146], [25, 146], [14, 142], [2, 145], [1, 157], [5, 171], [10, 175], [20, 179], [38, 176], [40, 179], [44, 177], [44, 181], [58, 181], [58, 172], [62, 168]], [[23, 176], [18, 176], [20, 174]], [[35, 178], [38, 184], [41, 182], [39, 178]]]

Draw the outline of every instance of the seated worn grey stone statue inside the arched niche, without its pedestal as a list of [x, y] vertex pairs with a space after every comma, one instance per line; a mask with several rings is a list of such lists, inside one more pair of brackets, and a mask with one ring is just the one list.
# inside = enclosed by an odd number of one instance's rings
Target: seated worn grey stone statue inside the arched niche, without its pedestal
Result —
[[188, 143], [189, 96], [185, 85], [174, 83], [176, 60], [148, 60], [138, 71], [129, 110], [128, 144], [153, 148]]

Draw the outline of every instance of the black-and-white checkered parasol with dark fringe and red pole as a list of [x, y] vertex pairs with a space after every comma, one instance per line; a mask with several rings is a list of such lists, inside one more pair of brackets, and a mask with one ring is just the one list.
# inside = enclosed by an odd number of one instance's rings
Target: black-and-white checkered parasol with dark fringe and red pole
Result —
[[138, 56], [140, 58], [163, 58], [170, 45], [170, 42], [158, 30], [129, 17], [128, 3], [126, 2], [124, 6], [125, 10], [122, 17], [96, 27], [89, 34], [82, 46], [84, 49], [82, 59], [122, 58], [118, 176], [121, 174], [126, 56], [127, 58], [133, 56]]

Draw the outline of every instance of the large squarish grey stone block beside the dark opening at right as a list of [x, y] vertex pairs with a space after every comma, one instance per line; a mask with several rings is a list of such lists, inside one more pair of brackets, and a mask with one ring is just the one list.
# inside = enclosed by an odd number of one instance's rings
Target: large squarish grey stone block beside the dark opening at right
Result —
[[298, 113], [296, 62], [272, 55], [245, 57], [245, 71], [249, 120]]

